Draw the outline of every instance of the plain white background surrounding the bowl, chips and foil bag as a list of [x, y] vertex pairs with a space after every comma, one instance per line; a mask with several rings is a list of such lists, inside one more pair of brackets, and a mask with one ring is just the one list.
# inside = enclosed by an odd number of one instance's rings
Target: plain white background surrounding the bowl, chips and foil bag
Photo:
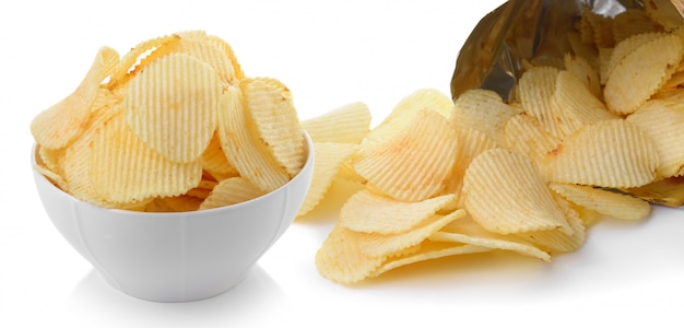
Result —
[[579, 251], [551, 263], [465, 256], [356, 286], [316, 271], [314, 254], [335, 219], [323, 209], [221, 296], [152, 303], [105, 284], [51, 225], [28, 163], [31, 119], [75, 87], [101, 46], [125, 54], [154, 36], [204, 30], [233, 45], [248, 75], [287, 84], [300, 118], [361, 101], [375, 125], [417, 89], [448, 94], [465, 37], [503, 1], [233, 2], [2, 1], [0, 327], [682, 324], [682, 209], [604, 221]]

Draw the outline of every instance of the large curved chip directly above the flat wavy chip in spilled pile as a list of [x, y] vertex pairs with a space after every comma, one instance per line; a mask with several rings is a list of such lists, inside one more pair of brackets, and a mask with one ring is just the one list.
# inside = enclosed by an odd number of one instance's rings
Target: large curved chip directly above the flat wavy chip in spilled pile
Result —
[[389, 141], [359, 151], [354, 168], [384, 195], [420, 201], [439, 192], [456, 162], [458, 134], [447, 119], [424, 109]]

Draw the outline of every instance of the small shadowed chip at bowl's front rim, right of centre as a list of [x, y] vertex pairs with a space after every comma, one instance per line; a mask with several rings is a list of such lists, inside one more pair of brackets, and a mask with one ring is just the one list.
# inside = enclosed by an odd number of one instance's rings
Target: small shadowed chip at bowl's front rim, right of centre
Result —
[[200, 210], [214, 209], [225, 206], [232, 206], [239, 202], [244, 202], [250, 199], [255, 199], [262, 196], [263, 191], [259, 190], [248, 179], [243, 177], [227, 178], [216, 187], [214, 187], [199, 206]]

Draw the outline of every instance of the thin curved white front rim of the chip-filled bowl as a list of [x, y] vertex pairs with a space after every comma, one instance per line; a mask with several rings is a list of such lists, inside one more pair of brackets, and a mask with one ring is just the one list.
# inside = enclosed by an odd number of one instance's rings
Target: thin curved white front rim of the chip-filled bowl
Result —
[[[238, 203], [234, 203], [234, 204], [229, 204], [229, 206], [224, 206], [224, 207], [220, 207], [220, 208], [212, 208], [212, 209], [205, 209], [205, 210], [196, 210], [196, 211], [185, 211], [185, 212], [139, 212], [139, 211], [131, 211], [131, 210], [125, 210], [125, 209], [115, 209], [115, 208], [104, 208], [104, 207], [99, 207], [96, 204], [93, 204], [91, 202], [81, 200], [74, 196], [72, 196], [71, 194], [62, 190], [61, 188], [55, 186], [55, 184], [52, 184], [45, 175], [43, 175], [42, 173], [39, 173], [38, 171], [36, 171], [36, 153], [37, 153], [37, 143], [34, 141], [33, 145], [31, 147], [31, 169], [33, 171], [34, 177], [36, 179], [43, 179], [44, 183], [46, 185], [48, 185], [47, 187], [50, 188], [51, 190], [60, 194], [63, 197], [67, 197], [69, 199], [71, 199], [72, 201], [75, 201], [80, 204], [84, 204], [87, 207], [92, 207], [102, 211], [107, 211], [107, 212], [113, 212], [113, 213], [120, 213], [120, 214], [134, 214], [134, 215], [141, 215], [141, 216], [164, 216], [165, 219], [169, 219], [169, 218], [180, 218], [180, 216], [187, 216], [187, 215], [196, 215], [196, 216], [204, 216], [204, 215], [210, 215], [213, 212], [221, 212], [221, 211], [226, 211], [226, 210], [231, 210], [231, 209], [235, 209], [235, 208], [239, 208], [239, 207], [246, 207], [249, 206], [251, 202], [256, 202], [259, 201], [262, 198], [266, 197], [270, 197], [271, 195], [280, 191], [281, 189], [284, 189], [286, 187], [288, 187], [290, 185], [294, 184], [296, 180], [299, 180], [303, 177], [303, 172], [305, 169], [310, 169], [311, 172], [314, 171], [314, 162], [315, 162], [315, 151], [314, 151], [314, 140], [311, 139], [311, 137], [308, 134], [308, 132], [306, 130], [303, 131], [304, 134], [304, 144], [305, 144], [305, 150], [306, 150], [306, 161], [304, 162], [304, 165], [302, 166], [302, 169], [294, 176], [292, 177], [287, 183], [285, 183], [284, 185], [278, 187], [276, 189], [267, 192], [264, 195], [261, 195], [257, 198], [252, 198], [246, 201], [241, 201]], [[307, 190], [308, 190], [309, 186], [307, 185]]]

